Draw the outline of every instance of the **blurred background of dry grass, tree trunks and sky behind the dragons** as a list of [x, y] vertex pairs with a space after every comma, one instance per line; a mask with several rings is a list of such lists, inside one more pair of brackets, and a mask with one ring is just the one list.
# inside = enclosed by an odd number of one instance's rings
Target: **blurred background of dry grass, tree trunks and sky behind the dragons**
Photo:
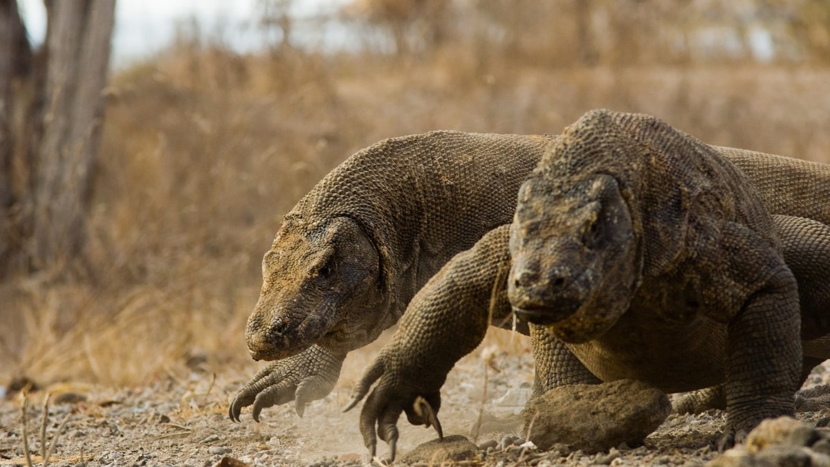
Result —
[[595, 107], [830, 162], [827, 0], [0, 0], [0, 385], [132, 385], [244, 326], [349, 155]]

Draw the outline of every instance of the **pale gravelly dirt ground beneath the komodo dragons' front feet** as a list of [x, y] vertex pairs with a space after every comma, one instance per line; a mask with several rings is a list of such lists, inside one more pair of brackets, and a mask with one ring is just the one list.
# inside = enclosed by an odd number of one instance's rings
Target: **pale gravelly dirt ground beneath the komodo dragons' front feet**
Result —
[[[372, 349], [376, 351], [376, 349]], [[493, 357], [494, 351], [496, 357]], [[28, 406], [29, 448], [41, 452], [42, 397], [52, 391], [46, 440], [70, 414], [66, 430], [51, 455], [50, 465], [215, 465], [223, 458], [248, 465], [362, 465], [369, 463], [358, 431], [358, 410], [342, 413], [349, 401], [355, 373], [371, 353], [349, 356], [344, 377], [322, 401], [311, 403], [300, 419], [291, 406], [266, 409], [261, 423], [242, 413], [242, 423], [227, 418], [227, 404], [247, 376], [193, 371], [170, 375], [146, 386], [107, 388], [82, 384], [53, 385], [33, 392]], [[496, 361], [498, 372], [485, 362]], [[485, 368], [486, 399], [482, 404]], [[483, 447], [483, 465], [703, 465], [717, 456], [715, 442], [724, 414], [712, 410], [701, 415], [670, 415], [641, 446], [619, 445], [607, 452], [586, 455], [554, 446], [541, 452], [520, 436], [517, 415], [530, 391], [533, 361], [528, 353], [508, 355], [483, 347], [463, 359], [442, 391], [439, 417], [445, 435], [465, 435]], [[826, 381], [820, 368], [813, 383]], [[25, 465], [22, 451], [22, 398], [0, 401], [0, 465]], [[474, 426], [481, 415], [476, 436]], [[822, 414], [799, 415], [815, 423]], [[435, 432], [399, 420], [399, 459]], [[492, 430], [492, 431], [491, 431]], [[378, 455], [388, 455], [378, 445]], [[33, 458], [37, 460], [39, 458]], [[229, 464], [226, 461], [225, 465]]]

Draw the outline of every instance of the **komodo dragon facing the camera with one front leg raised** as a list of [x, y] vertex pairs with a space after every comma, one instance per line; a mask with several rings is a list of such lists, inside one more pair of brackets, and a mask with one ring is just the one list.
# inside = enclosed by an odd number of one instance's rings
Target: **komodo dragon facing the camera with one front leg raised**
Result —
[[[592, 137], [583, 140], [586, 134]], [[607, 145], [603, 135], [613, 140], [613, 145]], [[608, 111], [589, 113], [564, 140], [551, 146], [547, 161], [535, 172], [538, 181], [528, 182], [530, 186], [525, 185], [522, 191], [523, 196], [533, 194], [520, 198], [516, 243], [526, 238], [535, 248], [528, 250], [526, 243], [524, 248], [517, 245], [515, 253], [522, 259], [519, 267], [513, 265], [510, 281], [515, 304], [525, 307], [533, 320], [553, 323], [549, 327], [531, 325], [537, 366], [535, 393], [565, 384], [597, 383], [598, 376], [606, 380], [633, 376], [666, 391], [688, 391], [713, 386], [729, 375], [729, 432], [740, 434], [761, 418], [790, 413], [792, 393], [802, 381], [798, 303], [792, 275], [777, 253], [778, 240], [771, 234], [773, 219], [764, 207], [773, 213], [793, 214], [775, 215], [774, 223], [784, 238], [785, 258], [801, 276], [799, 281], [803, 279], [810, 286], [800, 297], [805, 323], [801, 337], [823, 336], [830, 332], [830, 284], [824, 277], [830, 270], [830, 228], [826, 225], [830, 209], [822, 205], [830, 196], [830, 166], [730, 148], [714, 148], [715, 152], [653, 117]], [[718, 152], [749, 175], [760, 199], [754, 189], [747, 189], [745, 175], [718, 157]], [[587, 155], [603, 162], [638, 157], [643, 167], [649, 167], [647, 173], [657, 171], [652, 177], [664, 178], [655, 182], [631, 170], [612, 177], [608, 173], [625, 165], [609, 164], [612, 167], [607, 169], [591, 167], [600, 174], [593, 179], [568, 179], [568, 164], [579, 167]], [[684, 169], [666, 170], [673, 167], [671, 164]], [[567, 182], [552, 181], [550, 167], [564, 168], [556, 176]], [[681, 176], [681, 184], [669, 179]], [[565, 203], [565, 194], [574, 193], [583, 198], [569, 199], [568, 216], [561, 217], [563, 211], [554, 208], [555, 203]], [[585, 194], [600, 199], [588, 203]], [[660, 199], [664, 202], [656, 202]], [[637, 203], [651, 209], [635, 211]], [[701, 204], [706, 209], [701, 209]], [[689, 215], [672, 218], [670, 214], [678, 211]], [[560, 217], [545, 217], [546, 213]], [[673, 225], [659, 219], [671, 220]], [[592, 231], [592, 225], [598, 230]], [[713, 225], [717, 229], [712, 229]], [[530, 230], [522, 226], [530, 226]], [[538, 238], [545, 229], [558, 229], [564, 239], [545, 244]], [[413, 401], [422, 396], [437, 411], [447, 372], [481, 342], [488, 313], [503, 314], [510, 309], [504, 290], [508, 282], [504, 272], [510, 268], [509, 236], [510, 226], [501, 226], [447, 263], [413, 298], [398, 332], [355, 387], [347, 409], [379, 380], [360, 417], [361, 433], [373, 455], [375, 424], [394, 455], [398, 438], [395, 424], [402, 411], [414, 424], [434, 423], [413, 410]], [[738, 241], [748, 238], [752, 241]], [[590, 253], [584, 243], [591, 243], [603, 254]], [[541, 253], [539, 248], [543, 248]], [[698, 254], [690, 254], [693, 251]], [[719, 254], [713, 256], [714, 252]], [[527, 253], [532, 256], [525, 256]], [[613, 255], [622, 260], [611, 261]], [[560, 259], [569, 263], [559, 263]], [[707, 262], [715, 260], [724, 269], [699, 273]], [[541, 269], [542, 264], [549, 269]], [[569, 274], [565, 274], [568, 268]], [[543, 278], [552, 283], [535, 287]], [[608, 283], [598, 285], [596, 281], [603, 278]], [[724, 278], [730, 282], [717, 282]], [[494, 287], [501, 292], [491, 303]], [[594, 295], [588, 298], [591, 292]], [[676, 297], [681, 300], [675, 302]], [[601, 306], [597, 300], [613, 306]], [[581, 307], [583, 301], [593, 302], [594, 307]], [[609, 308], [612, 316], [603, 316]], [[757, 321], [756, 316], [760, 317]], [[758, 343], [750, 337], [755, 336], [753, 332], [764, 336], [763, 346], [752, 346]], [[565, 345], [555, 336], [574, 343]], [[668, 341], [667, 336], [671, 336]], [[830, 346], [815, 347], [813, 353], [806, 354], [807, 369], [830, 356]], [[727, 351], [730, 358], [725, 361]], [[769, 366], [759, 364], [764, 355], [770, 356]], [[727, 437], [725, 444], [729, 442]]]

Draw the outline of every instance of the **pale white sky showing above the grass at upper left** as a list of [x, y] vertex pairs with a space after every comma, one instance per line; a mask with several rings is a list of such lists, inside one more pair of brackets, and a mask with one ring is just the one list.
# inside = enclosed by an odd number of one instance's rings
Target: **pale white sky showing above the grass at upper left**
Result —
[[[303, 17], [333, 10], [346, 0], [295, 0], [292, 12]], [[42, 0], [18, 0], [32, 42], [42, 42], [46, 33], [46, 11]], [[176, 25], [195, 19], [203, 32], [222, 30], [237, 52], [263, 48], [263, 32], [257, 27], [260, 0], [118, 0], [115, 2], [112, 60], [116, 67], [149, 57], [174, 37]], [[337, 32], [329, 31], [329, 35]], [[302, 30], [298, 27], [300, 41]], [[293, 35], [292, 35], [293, 36]], [[318, 32], [318, 37], [320, 34]], [[324, 41], [325, 41], [324, 37]], [[327, 39], [333, 43], [336, 37]]]

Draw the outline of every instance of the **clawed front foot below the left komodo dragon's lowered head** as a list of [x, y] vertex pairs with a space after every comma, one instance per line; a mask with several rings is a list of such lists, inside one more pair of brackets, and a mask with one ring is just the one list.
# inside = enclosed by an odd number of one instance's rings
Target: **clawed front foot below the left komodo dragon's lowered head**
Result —
[[344, 358], [345, 355], [311, 346], [295, 356], [275, 361], [242, 387], [227, 415], [239, 421], [242, 407], [252, 405], [251, 415], [258, 422], [262, 409], [294, 401], [297, 415], [302, 417], [305, 404], [322, 399], [334, 389]]

